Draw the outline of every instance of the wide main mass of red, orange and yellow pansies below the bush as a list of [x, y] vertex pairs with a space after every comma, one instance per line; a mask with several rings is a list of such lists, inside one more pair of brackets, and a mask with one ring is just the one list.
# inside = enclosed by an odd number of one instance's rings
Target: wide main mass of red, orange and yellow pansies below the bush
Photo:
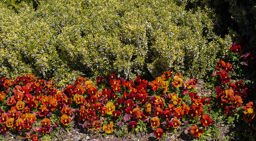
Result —
[[[96, 85], [79, 77], [74, 85], [61, 90], [54, 88], [52, 79], [45, 81], [32, 74], [17, 77], [14, 81], [6, 78], [0, 81], [1, 100], [6, 100], [8, 105], [1, 110], [2, 132], [7, 133], [10, 128], [26, 129], [30, 131], [26, 136], [33, 140], [52, 132], [59, 127], [59, 122], [61, 126], [68, 126], [73, 119], [82, 122], [88, 130], [106, 133], [112, 133], [116, 126], [124, 124], [130, 130], [136, 130], [138, 122], [144, 121], [155, 130], [158, 139], [164, 131], [178, 128], [183, 116], [201, 115], [200, 122], [204, 126], [212, 123], [208, 115], [202, 115], [203, 105], [208, 105], [210, 98], [189, 92], [194, 90], [197, 80], [183, 80], [181, 73], [172, 76], [166, 71], [152, 82], [142, 76], [128, 81], [113, 73], [109, 75], [109, 81], [97, 77]], [[182, 97], [187, 94], [190, 100], [186, 103]], [[52, 114], [58, 117], [57, 122], [52, 121]], [[41, 126], [36, 124], [37, 119], [41, 119]], [[115, 123], [116, 120], [119, 123]], [[199, 137], [201, 129], [197, 131], [196, 126], [192, 132]]]

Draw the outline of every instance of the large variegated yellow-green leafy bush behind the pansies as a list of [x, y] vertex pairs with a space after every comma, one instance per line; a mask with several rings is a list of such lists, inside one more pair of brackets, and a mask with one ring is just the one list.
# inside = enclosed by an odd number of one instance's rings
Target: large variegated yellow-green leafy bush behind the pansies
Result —
[[210, 63], [228, 55], [229, 35], [213, 32], [205, 10], [150, 0], [47, 0], [22, 3], [19, 13], [0, 6], [0, 75], [26, 73], [57, 85], [80, 75], [126, 78], [164, 70], [203, 77]]

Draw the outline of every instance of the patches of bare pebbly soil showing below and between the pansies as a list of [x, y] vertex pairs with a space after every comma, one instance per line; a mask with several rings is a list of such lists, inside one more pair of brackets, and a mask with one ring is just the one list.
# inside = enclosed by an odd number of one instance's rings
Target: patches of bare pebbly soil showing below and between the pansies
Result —
[[[198, 81], [198, 85], [196, 87], [198, 90], [198, 95], [211, 95], [212, 91], [209, 89], [205, 89], [205, 85], [202, 80]], [[79, 123], [71, 122], [74, 126], [70, 130], [69, 133], [63, 133], [59, 138], [53, 139], [55, 141], [158, 141], [154, 136], [154, 133], [138, 133], [132, 134], [128, 133], [125, 137], [117, 137], [115, 134], [110, 134], [107, 137], [104, 137], [103, 134], [91, 134], [86, 128], [84, 129], [82, 126], [78, 125]], [[183, 127], [177, 128], [177, 132], [175, 133], [166, 133], [165, 141], [188, 141], [191, 140], [189, 136], [185, 135], [182, 129]], [[216, 128], [220, 130], [220, 134], [218, 136], [218, 140], [225, 140], [227, 136], [230, 135], [231, 127], [227, 127], [224, 124], [218, 125], [216, 124]], [[7, 133], [0, 134], [0, 140], [6, 141], [27, 141], [32, 140], [26, 137], [21, 137], [21, 132], [18, 133]], [[216, 139], [207, 138], [209, 141], [214, 141]]]

